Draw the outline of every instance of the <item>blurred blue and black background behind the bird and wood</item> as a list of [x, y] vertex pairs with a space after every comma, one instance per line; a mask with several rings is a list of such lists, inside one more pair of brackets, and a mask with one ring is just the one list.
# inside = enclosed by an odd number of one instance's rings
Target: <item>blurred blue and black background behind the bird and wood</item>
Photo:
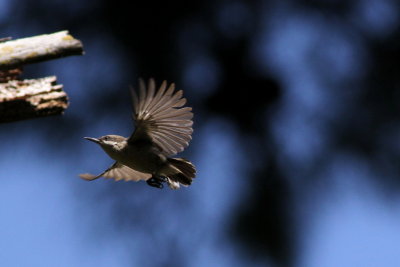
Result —
[[[0, 37], [69, 30], [63, 116], [0, 125], [1, 266], [399, 266], [395, 0], [0, 0]], [[100, 179], [129, 85], [194, 110], [189, 188]]]

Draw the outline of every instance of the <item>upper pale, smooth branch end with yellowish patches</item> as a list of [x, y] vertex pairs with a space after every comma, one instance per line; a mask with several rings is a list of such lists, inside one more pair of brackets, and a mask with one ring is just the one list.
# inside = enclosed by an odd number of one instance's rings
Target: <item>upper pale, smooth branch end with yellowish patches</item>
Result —
[[0, 70], [71, 55], [82, 55], [82, 43], [60, 31], [0, 43]]

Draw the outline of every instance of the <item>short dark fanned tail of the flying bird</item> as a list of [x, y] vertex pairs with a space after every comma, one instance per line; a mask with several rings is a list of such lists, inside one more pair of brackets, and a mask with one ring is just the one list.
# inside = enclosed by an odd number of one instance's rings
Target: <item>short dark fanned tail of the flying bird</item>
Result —
[[196, 176], [196, 167], [188, 160], [183, 158], [169, 158], [169, 163], [179, 172], [168, 175], [168, 185], [172, 189], [179, 188], [179, 183], [188, 186]]

